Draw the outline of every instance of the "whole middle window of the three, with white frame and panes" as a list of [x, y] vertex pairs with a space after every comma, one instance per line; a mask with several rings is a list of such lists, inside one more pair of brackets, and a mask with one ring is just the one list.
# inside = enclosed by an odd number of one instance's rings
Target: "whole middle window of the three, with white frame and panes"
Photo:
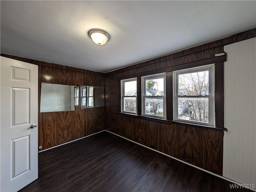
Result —
[[165, 73], [142, 77], [142, 115], [166, 118]]

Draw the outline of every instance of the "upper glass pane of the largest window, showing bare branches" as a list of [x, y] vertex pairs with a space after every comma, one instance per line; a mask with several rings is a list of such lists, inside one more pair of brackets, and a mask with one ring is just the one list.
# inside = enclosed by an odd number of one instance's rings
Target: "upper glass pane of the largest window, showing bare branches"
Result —
[[209, 95], [209, 71], [178, 75], [178, 95]]

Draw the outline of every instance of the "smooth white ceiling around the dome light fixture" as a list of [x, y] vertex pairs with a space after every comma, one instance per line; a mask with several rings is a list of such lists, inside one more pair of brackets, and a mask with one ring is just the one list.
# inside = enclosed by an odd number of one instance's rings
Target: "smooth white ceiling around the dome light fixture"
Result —
[[[107, 72], [256, 28], [256, 1], [0, 1], [1, 53]], [[98, 46], [88, 30], [110, 41]]]

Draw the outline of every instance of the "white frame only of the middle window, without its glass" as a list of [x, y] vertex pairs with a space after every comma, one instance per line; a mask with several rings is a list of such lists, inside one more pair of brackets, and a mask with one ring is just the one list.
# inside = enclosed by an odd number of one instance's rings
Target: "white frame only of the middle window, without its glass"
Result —
[[[146, 80], [151, 80], [151, 79], [164, 79], [164, 95], [161, 96], [146, 96]], [[166, 73], [157, 73], [157, 74], [152, 74], [152, 75], [146, 75], [141, 77], [141, 87], [142, 87], [142, 116], [145, 117], [153, 117], [153, 118], [160, 118], [160, 119], [166, 119]], [[163, 117], [158, 116], [158, 115], [148, 115], [146, 114], [146, 98], [163, 98]]]

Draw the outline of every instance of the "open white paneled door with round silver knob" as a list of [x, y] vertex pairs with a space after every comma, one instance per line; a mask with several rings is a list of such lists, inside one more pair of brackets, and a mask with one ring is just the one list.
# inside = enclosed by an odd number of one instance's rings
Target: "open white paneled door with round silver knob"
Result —
[[0, 192], [38, 178], [38, 66], [1, 57]]

